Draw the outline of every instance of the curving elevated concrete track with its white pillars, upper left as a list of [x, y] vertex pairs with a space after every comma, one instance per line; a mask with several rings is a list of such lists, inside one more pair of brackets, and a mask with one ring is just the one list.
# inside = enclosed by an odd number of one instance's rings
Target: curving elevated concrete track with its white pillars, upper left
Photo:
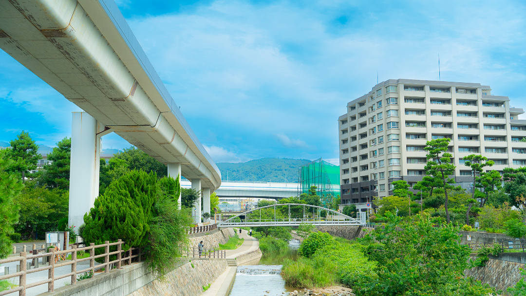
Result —
[[109, 132], [191, 180], [208, 211], [221, 173], [113, 0], [0, 0], [0, 48], [85, 111], [72, 120], [69, 225], [82, 224], [98, 197]]

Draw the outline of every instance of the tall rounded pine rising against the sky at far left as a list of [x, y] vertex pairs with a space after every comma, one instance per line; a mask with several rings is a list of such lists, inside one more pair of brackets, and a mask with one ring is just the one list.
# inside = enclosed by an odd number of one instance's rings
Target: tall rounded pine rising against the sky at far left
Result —
[[22, 182], [24, 182], [26, 172], [36, 169], [38, 160], [42, 159], [38, 154], [38, 145], [25, 131], [22, 131], [15, 140], [9, 141], [9, 145], [11, 145], [9, 158], [15, 161], [11, 168], [22, 174]]

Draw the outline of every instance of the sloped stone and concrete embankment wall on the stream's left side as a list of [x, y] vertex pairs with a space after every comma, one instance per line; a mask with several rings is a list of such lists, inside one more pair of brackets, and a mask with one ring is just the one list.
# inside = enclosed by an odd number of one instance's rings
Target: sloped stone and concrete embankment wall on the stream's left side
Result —
[[[190, 238], [190, 246], [197, 246], [201, 240], [207, 248], [217, 248], [234, 236], [234, 229], [214, 231], [204, 236]], [[259, 249], [258, 249], [259, 250]], [[251, 258], [250, 255], [247, 254]], [[155, 280], [146, 262], [132, 263], [109, 273], [95, 274], [92, 279], [77, 282], [75, 285], [60, 287], [53, 293], [39, 296], [143, 296], [143, 295], [183, 295], [198, 296], [203, 286], [214, 282], [228, 267], [226, 259], [194, 260], [181, 258], [177, 267], [166, 274], [165, 281]]]

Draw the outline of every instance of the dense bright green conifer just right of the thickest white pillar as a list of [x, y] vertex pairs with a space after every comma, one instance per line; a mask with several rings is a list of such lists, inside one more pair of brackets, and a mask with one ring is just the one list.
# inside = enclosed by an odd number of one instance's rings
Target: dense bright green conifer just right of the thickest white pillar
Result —
[[123, 239], [126, 249], [146, 246], [157, 194], [155, 172], [134, 170], [112, 182], [84, 215], [86, 243]]

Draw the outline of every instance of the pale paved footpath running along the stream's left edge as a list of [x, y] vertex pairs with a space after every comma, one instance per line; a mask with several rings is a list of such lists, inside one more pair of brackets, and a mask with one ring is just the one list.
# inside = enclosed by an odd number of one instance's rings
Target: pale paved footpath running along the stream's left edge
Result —
[[[250, 237], [246, 230], [241, 230], [239, 235], [239, 229], [235, 228], [240, 238], [245, 239], [243, 244], [235, 250], [227, 250], [226, 256], [228, 259], [236, 258], [242, 254], [251, 252], [259, 248], [259, 241], [254, 237]], [[210, 288], [203, 292], [201, 296], [226, 296], [232, 287], [232, 283], [236, 278], [237, 267], [227, 267], [217, 279], [210, 285]]]

